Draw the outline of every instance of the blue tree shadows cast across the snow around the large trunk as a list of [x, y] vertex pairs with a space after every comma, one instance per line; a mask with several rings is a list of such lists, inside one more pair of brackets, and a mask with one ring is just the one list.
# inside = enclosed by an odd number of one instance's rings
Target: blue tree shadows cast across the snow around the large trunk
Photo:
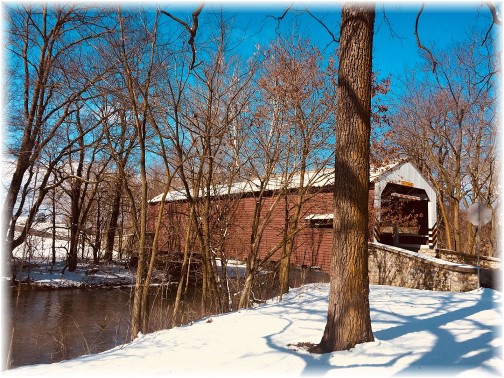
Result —
[[[470, 367], [483, 367], [484, 361], [492, 358], [495, 353], [495, 347], [491, 345], [492, 341], [495, 339], [495, 333], [498, 330], [495, 327], [485, 325], [479, 322], [477, 319], [472, 319], [471, 316], [475, 315], [481, 311], [490, 310], [495, 308], [495, 304], [492, 300], [492, 290], [486, 289], [482, 292], [479, 300], [473, 305], [464, 308], [458, 308], [451, 311], [450, 307], [454, 307], [460, 300], [446, 300], [438, 304], [443, 307], [447, 312], [438, 316], [433, 316], [429, 318], [425, 317], [425, 313], [417, 317], [414, 315], [398, 315], [402, 324], [398, 326], [393, 326], [381, 331], [374, 332], [375, 339], [378, 341], [389, 341], [394, 343], [394, 340], [405, 336], [408, 334], [414, 334], [418, 332], [429, 332], [429, 334], [435, 336], [436, 341], [432, 346], [431, 350], [427, 352], [420, 352], [415, 350], [405, 351], [401, 354], [386, 355], [387, 362], [383, 363], [373, 363], [370, 356], [370, 363], [366, 364], [354, 364], [337, 366], [331, 363], [333, 354], [311, 354], [306, 351], [298, 351], [296, 349], [291, 349], [289, 346], [292, 345], [280, 345], [275, 341], [275, 336], [281, 335], [286, 332], [291, 326], [292, 321], [285, 319], [288, 323], [277, 333], [270, 334], [265, 337], [268, 346], [271, 349], [278, 350], [282, 353], [287, 353], [297, 358], [303, 360], [305, 367], [302, 375], [324, 375], [329, 371], [338, 369], [352, 369], [358, 367], [370, 367], [380, 368], [391, 367], [398, 363], [402, 358], [419, 355], [414, 362], [410, 363], [408, 366], [404, 367], [396, 375], [406, 376], [411, 374], [446, 374], [453, 375], [466, 371]], [[306, 311], [306, 308], [305, 310]], [[385, 312], [372, 309], [372, 312]], [[313, 310], [309, 312], [310, 316], [321, 316], [325, 319], [327, 313], [324, 311]], [[461, 336], [462, 341], [457, 341], [454, 330], [444, 329], [443, 326], [455, 321], [471, 322], [472, 327], [478, 330], [479, 336], [477, 338], [468, 339]], [[380, 321], [383, 322], [383, 321]], [[322, 333], [320, 334], [322, 337]], [[300, 342], [302, 340], [299, 340]], [[303, 343], [301, 342], [300, 345]], [[379, 351], [379, 346], [377, 347]], [[413, 349], [413, 347], [412, 347]], [[365, 352], [359, 352], [365, 353]], [[376, 351], [373, 352], [376, 355]], [[500, 375], [499, 371], [496, 371], [492, 367], [484, 367], [488, 370], [489, 374]]]

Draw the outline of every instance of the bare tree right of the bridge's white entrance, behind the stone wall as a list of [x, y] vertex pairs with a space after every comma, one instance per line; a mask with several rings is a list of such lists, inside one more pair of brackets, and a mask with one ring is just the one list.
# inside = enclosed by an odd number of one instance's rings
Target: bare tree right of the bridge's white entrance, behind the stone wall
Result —
[[[494, 53], [473, 37], [436, 53], [434, 80], [410, 76], [397, 98], [391, 141], [436, 188], [448, 249], [471, 252], [475, 231], [463, 214], [494, 206], [496, 96]], [[411, 143], [414, 138], [417, 143]], [[467, 232], [466, 230], [469, 230]]]

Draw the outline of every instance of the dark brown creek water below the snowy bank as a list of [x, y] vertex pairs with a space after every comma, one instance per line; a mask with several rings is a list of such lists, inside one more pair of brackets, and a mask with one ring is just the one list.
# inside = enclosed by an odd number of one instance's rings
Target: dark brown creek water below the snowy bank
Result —
[[[308, 282], [328, 282], [328, 276], [317, 271], [291, 270], [291, 287]], [[169, 328], [175, 294], [176, 285], [151, 288], [150, 332]], [[270, 288], [258, 293], [258, 298], [273, 295]], [[177, 324], [202, 317], [200, 298], [197, 288], [188, 291]], [[11, 288], [9, 299], [8, 309], [14, 329], [11, 326], [6, 328], [6, 334], [13, 335], [10, 348], [5, 345], [5, 349], [10, 350], [7, 368], [100, 353], [129, 341], [133, 302], [129, 288], [24, 288], [19, 297], [17, 289]]]

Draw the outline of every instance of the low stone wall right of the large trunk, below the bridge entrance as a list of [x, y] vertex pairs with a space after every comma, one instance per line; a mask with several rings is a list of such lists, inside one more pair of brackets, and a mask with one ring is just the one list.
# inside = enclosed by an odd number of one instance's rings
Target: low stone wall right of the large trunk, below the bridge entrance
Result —
[[478, 269], [384, 244], [369, 243], [370, 284], [436, 291], [478, 288]]

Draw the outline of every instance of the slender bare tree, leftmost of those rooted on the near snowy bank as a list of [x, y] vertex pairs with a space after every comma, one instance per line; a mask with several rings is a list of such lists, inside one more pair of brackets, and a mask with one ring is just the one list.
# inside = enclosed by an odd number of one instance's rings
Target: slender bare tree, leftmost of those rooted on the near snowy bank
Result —
[[[147, 264], [150, 250], [147, 239], [147, 206], [148, 206], [148, 182], [147, 182], [147, 152], [150, 135], [150, 112], [152, 108], [151, 97], [155, 87], [155, 75], [159, 69], [159, 60], [156, 54], [158, 38], [159, 13], [155, 12], [147, 16], [142, 9], [124, 11], [117, 9], [117, 34], [110, 39], [110, 54], [115, 58], [117, 72], [121, 78], [123, 97], [120, 102], [127, 109], [123, 112], [123, 121], [130, 123], [135, 132], [133, 138], [138, 154], [138, 177], [139, 198], [130, 187], [126, 190], [130, 197], [133, 213], [135, 235], [138, 240], [138, 265], [136, 271], [135, 287], [133, 290], [133, 304], [131, 311], [131, 339], [138, 332], [146, 332], [148, 319], [147, 298], [144, 287], [148, 285]], [[119, 112], [121, 117], [121, 111]], [[121, 120], [121, 119], [120, 119]], [[124, 147], [122, 145], [122, 147]], [[120, 151], [124, 150], [121, 147]], [[124, 182], [127, 180], [126, 170], [122, 157], [119, 159], [119, 174]]]

